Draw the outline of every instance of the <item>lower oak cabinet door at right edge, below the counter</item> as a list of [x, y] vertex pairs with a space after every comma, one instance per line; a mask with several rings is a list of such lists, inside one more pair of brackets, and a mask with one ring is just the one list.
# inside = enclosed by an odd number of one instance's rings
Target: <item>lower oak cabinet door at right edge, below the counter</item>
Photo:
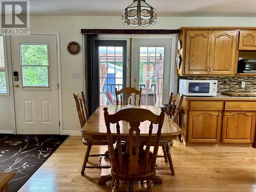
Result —
[[225, 111], [222, 132], [223, 143], [252, 143], [255, 132], [255, 112]]

